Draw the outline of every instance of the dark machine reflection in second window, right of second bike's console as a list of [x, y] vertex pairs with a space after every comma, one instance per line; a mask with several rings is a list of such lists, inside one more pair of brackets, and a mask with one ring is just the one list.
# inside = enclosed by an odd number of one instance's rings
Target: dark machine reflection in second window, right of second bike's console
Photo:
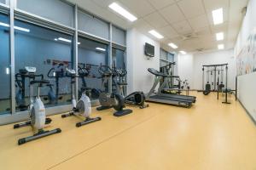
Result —
[[91, 66], [98, 66], [98, 65], [86, 64], [83, 67], [79, 66], [79, 77], [82, 80], [82, 88], [79, 90], [79, 96], [81, 96], [85, 91], [85, 94], [88, 95], [91, 99], [98, 99], [100, 96], [101, 90], [97, 88], [89, 88], [85, 81], [85, 78], [96, 78], [95, 75], [90, 73]]

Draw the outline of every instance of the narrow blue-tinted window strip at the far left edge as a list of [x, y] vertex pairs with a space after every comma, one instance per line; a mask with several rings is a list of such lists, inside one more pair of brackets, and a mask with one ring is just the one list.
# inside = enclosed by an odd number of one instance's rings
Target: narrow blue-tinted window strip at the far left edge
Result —
[[0, 14], [0, 114], [10, 111], [9, 17]]

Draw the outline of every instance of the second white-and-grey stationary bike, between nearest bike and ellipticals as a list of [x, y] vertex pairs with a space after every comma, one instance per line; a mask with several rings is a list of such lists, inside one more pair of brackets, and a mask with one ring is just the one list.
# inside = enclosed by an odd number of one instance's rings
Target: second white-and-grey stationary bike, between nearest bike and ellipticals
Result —
[[[67, 69], [67, 77], [71, 77], [71, 83], [72, 83], [72, 88], [74, 92], [73, 84], [75, 83], [75, 78], [79, 76], [76, 75], [76, 71]], [[102, 120], [101, 117], [90, 118], [90, 114], [91, 114], [90, 99], [85, 94], [85, 91], [83, 91], [78, 103], [73, 94], [72, 105], [73, 105], [73, 111], [70, 111], [67, 114], [61, 115], [61, 117], [65, 118], [67, 116], [84, 116], [85, 120], [83, 122], [77, 122], [76, 127], [81, 127], [91, 122], [97, 122]]]

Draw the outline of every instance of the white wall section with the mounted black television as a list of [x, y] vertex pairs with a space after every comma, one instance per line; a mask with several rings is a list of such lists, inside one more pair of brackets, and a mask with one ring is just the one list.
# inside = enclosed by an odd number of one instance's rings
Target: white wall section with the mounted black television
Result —
[[[144, 54], [144, 44], [148, 42], [154, 45], [154, 58], [148, 58]], [[159, 71], [160, 68], [160, 43], [144, 36], [136, 29], [127, 31], [127, 92], [143, 91], [148, 93], [154, 83], [154, 76], [148, 72], [148, 68]]]

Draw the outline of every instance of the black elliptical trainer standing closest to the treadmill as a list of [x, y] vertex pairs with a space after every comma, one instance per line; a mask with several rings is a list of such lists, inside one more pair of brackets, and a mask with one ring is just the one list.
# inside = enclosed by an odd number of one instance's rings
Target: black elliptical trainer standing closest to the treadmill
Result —
[[[115, 62], [113, 62], [113, 86], [117, 88], [117, 91], [120, 95], [125, 97], [125, 77], [127, 71], [125, 69], [125, 63], [123, 68], [117, 68]], [[145, 94], [143, 92], [133, 92], [125, 97], [125, 104], [128, 105], [138, 105], [141, 109], [148, 107], [145, 105]]]

